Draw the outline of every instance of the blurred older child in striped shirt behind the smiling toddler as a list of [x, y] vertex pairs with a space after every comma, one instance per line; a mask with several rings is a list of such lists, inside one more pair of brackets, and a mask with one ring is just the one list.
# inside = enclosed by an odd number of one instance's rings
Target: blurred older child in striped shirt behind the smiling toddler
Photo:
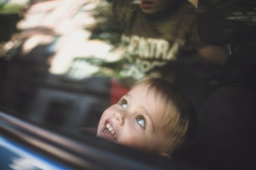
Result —
[[182, 60], [184, 50], [195, 49], [202, 58], [225, 64], [224, 48], [200, 40], [195, 7], [187, 0], [102, 0], [94, 18], [96, 24], [88, 29], [121, 34], [117, 47], [124, 53], [117, 55], [124, 60], [119, 76], [125, 87], [144, 77], [173, 82], [173, 64]]

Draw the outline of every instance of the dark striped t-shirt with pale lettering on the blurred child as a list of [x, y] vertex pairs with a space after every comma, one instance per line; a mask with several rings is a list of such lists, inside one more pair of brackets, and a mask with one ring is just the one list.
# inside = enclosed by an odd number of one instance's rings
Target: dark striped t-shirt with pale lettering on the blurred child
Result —
[[177, 60], [180, 49], [206, 46], [198, 36], [195, 7], [187, 0], [180, 1], [177, 7], [158, 16], [145, 15], [129, 0], [111, 0], [99, 8], [105, 17], [104, 20], [99, 17], [101, 29], [121, 30], [119, 45], [126, 50], [119, 74], [126, 86], [144, 77], [173, 81], [172, 63]]

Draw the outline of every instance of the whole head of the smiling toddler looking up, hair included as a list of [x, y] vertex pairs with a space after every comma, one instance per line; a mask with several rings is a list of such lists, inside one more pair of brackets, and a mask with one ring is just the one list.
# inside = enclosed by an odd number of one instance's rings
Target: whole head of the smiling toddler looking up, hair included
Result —
[[144, 78], [104, 111], [97, 136], [171, 155], [191, 137], [195, 123], [193, 105], [183, 91], [164, 79]]

